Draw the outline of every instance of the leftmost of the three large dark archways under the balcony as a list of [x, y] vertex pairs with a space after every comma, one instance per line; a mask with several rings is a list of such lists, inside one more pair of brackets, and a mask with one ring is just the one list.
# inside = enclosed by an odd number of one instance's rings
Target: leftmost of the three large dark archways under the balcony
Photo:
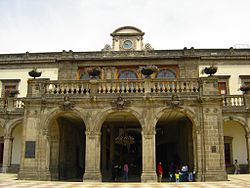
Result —
[[85, 124], [73, 113], [55, 117], [50, 126], [52, 180], [82, 181], [85, 171]]

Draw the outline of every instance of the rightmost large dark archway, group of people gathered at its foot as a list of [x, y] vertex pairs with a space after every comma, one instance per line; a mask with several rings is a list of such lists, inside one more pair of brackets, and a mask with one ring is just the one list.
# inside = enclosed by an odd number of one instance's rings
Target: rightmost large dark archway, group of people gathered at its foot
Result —
[[163, 166], [163, 181], [170, 181], [169, 172], [188, 165], [194, 170], [192, 122], [179, 111], [165, 112], [156, 124], [156, 163]]

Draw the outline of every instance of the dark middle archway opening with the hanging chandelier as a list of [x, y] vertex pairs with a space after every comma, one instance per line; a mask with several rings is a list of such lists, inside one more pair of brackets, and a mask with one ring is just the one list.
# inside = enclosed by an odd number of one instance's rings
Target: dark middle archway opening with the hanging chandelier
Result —
[[[110, 114], [102, 125], [101, 170], [106, 182], [139, 182], [142, 167], [142, 139], [139, 121], [130, 113]], [[118, 143], [119, 136], [130, 136], [132, 144]], [[124, 164], [129, 167], [128, 180], [124, 177]], [[116, 168], [118, 166], [118, 169]]]

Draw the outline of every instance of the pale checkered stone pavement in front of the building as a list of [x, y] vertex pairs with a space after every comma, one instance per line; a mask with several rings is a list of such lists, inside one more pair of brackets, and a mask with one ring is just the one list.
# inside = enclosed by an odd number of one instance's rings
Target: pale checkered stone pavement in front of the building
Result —
[[87, 187], [87, 188], [125, 188], [125, 187], [172, 187], [172, 188], [247, 188], [250, 187], [250, 174], [229, 175], [229, 181], [218, 182], [182, 182], [182, 183], [93, 183], [93, 182], [62, 182], [62, 181], [28, 181], [18, 180], [16, 174], [0, 173], [0, 188], [2, 187], [36, 187], [36, 188], [53, 188], [53, 187]]

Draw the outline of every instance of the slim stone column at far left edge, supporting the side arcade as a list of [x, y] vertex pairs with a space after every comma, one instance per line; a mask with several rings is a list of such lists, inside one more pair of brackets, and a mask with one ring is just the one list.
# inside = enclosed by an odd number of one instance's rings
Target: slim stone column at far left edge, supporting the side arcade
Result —
[[3, 173], [7, 173], [8, 168], [11, 165], [12, 144], [13, 144], [13, 137], [10, 135], [5, 135], [4, 136], [4, 151], [3, 151], [3, 167], [2, 167]]

